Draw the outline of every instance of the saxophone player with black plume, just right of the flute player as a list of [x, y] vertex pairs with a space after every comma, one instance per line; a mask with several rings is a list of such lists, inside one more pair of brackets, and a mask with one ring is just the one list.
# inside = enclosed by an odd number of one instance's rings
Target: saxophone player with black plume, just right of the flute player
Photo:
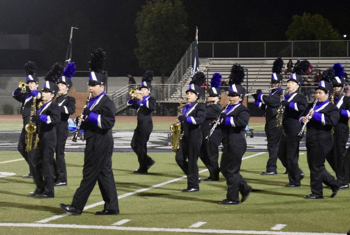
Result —
[[308, 102], [304, 95], [298, 93], [298, 90], [303, 81], [301, 75], [308, 68], [309, 62], [307, 60], [303, 60], [293, 67], [287, 84], [288, 94], [281, 102], [285, 111], [282, 121], [283, 133], [277, 155], [283, 166], [288, 166], [289, 184], [285, 184], [285, 187], [300, 187], [300, 181], [304, 178], [304, 173], [298, 164], [300, 139], [297, 135], [300, 131], [299, 116], [306, 109]]

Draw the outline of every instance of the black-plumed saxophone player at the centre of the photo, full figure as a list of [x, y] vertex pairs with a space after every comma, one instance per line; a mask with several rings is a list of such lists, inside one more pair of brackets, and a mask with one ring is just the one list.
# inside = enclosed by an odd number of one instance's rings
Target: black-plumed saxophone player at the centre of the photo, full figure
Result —
[[187, 189], [182, 192], [199, 191], [200, 178], [198, 178], [198, 156], [202, 145], [201, 124], [205, 120], [206, 109], [204, 104], [198, 103], [204, 74], [197, 72], [186, 91], [187, 102], [182, 109], [182, 115], [178, 120], [183, 123], [183, 137], [180, 140], [180, 147], [175, 155], [175, 161], [187, 175]]

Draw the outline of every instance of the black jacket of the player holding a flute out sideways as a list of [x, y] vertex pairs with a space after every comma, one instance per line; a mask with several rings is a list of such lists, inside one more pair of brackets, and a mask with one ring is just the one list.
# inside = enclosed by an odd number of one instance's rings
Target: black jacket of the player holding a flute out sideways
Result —
[[262, 110], [265, 110], [266, 122], [276, 119], [277, 110], [280, 104], [282, 88], [272, 91], [269, 95], [259, 95], [256, 105]]

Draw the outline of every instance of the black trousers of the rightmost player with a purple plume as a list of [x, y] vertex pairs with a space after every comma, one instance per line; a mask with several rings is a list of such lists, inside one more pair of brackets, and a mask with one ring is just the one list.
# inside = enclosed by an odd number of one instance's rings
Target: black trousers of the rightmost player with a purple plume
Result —
[[347, 185], [349, 182], [344, 176], [344, 157], [346, 150], [346, 143], [349, 139], [349, 126], [338, 123], [334, 127], [334, 145], [331, 154], [327, 156], [327, 161], [334, 170], [337, 179], [341, 185]]

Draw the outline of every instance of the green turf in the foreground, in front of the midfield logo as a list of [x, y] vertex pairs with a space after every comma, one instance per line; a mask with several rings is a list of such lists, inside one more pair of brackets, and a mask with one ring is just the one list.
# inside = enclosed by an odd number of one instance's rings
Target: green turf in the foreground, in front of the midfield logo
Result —
[[[246, 152], [244, 156], [255, 154], [257, 152]], [[33, 191], [35, 187], [30, 179], [22, 178], [22, 175], [28, 173], [26, 162], [22, 160], [5, 162], [21, 159], [19, 153], [1, 151], [0, 171], [14, 172], [16, 175], [0, 178], [0, 234], [193, 234], [194, 232], [199, 234], [229, 230], [230, 233], [236, 234], [293, 235], [287, 232], [300, 232], [299, 235], [301, 235], [345, 234], [350, 229], [349, 190], [341, 191], [335, 198], [330, 198], [331, 191], [324, 189], [325, 199], [303, 199], [304, 195], [310, 193], [306, 153], [301, 153], [299, 161], [306, 177], [302, 181], [302, 187], [296, 189], [283, 187], [288, 183], [287, 175], [262, 176], [259, 174], [265, 168], [267, 153], [244, 159], [241, 174], [254, 191], [247, 201], [238, 206], [218, 204], [226, 194], [226, 182], [222, 176], [221, 182], [202, 182], [200, 192], [183, 193], [181, 189], [187, 187], [186, 179], [168, 182], [183, 176], [183, 172], [175, 163], [175, 154], [150, 153], [149, 155], [156, 161], [149, 170], [150, 173], [134, 175], [131, 171], [138, 166], [136, 155], [134, 153], [113, 154], [116, 187], [119, 197], [123, 197], [119, 199], [119, 216], [94, 215], [96, 211], [103, 210], [103, 204], [100, 204], [84, 210], [81, 216], [68, 215], [38, 223], [36, 221], [64, 214], [58, 205], [71, 203], [82, 178], [83, 153], [66, 153], [68, 186], [56, 187], [53, 199], [39, 199], [28, 196], [28, 192]], [[198, 163], [200, 170], [205, 170], [200, 160]], [[278, 167], [280, 173], [284, 171], [280, 162]], [[326, 167], [330, 170], [328, 165]], [[205, 178], [209, 173], [204, 171], [200, 176]], [[164, 185], [157, 186], [160, 183]], [[156, 186], [147, 190], [153, 185]], [[125, 195], [137, 190], [141, 191], [130, 196]], [[96, 185], [86, 206], [101, 201], [102, 197]], [[120, 220], [130, 221], [123, 225], [113, 225]], [[190, 228], [197, 222], [206, 223], [198, 228]], [[15, 224], [3, 226], [3, 223]], [[280, 230], [272, 229], [279, 224], [285, 226]], [[72, 225], [77, 226], [73, 228]], [[115, 231], [115, 229], [119, 230]], [[226, 231], [226, 233], [229, 232]]]

